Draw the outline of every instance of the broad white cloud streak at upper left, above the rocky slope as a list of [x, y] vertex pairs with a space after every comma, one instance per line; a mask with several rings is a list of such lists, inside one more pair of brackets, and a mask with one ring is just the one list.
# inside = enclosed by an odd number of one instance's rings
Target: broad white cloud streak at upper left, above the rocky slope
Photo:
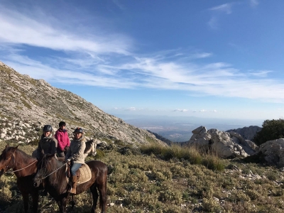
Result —
[[71, 31], [60, 24], [60, 21], [45, 19], [48, 19], [48, 15], [44, 13], [31, 18], [1, 6], [0, 28], [5, 33], [0, 33], [0, 42], [93, 54], [129, 54], [131, 39], [125, 35], [88, 35], [84, 31], [77, 31], [76, 26]]

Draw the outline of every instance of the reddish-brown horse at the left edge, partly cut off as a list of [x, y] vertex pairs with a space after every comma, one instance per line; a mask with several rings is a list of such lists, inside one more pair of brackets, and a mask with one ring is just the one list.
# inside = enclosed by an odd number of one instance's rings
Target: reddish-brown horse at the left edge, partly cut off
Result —
[[[33, 212], [38, 212], [38, 190], [33, 187], [33, 178], [37, 170], [36, 158], [32, 158], [16, 147], [9, 147], [7, 144], [0, 155], [0, 177], [10, 168], [17, 177], [18, 189], [23, 196], [23, 207], [28, 212], [28, 195], [33, 199]], [[42, 190], [42, 189], [41, 189]]]

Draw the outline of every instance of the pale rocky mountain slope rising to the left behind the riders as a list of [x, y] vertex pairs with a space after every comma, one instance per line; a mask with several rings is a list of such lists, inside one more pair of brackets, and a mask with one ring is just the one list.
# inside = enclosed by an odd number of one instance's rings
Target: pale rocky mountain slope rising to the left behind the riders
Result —
[[[40, 132], [45, 124], [58, 128], [67, 123], [71, 133], [80, 126], [91, 138], [106, 138], [136, 145], [160, 143], [152, 133], [126, 124], [122, 119], [105, 113], [65, 89], [52, 87], [45, 80], [21, 75], [0, 62], [0, 130], [1, 140], [31, 140], [28, 133]], [[24, 133], [23, 133], [24, 132]], [[30, 134], [31, 136], [31, 134]]]

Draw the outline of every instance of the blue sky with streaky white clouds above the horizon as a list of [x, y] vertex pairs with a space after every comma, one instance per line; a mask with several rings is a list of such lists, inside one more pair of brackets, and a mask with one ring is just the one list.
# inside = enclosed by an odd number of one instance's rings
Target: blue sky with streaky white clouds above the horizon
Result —
[[284, 1], [0, 0], [0, 61], [109, 114], [280, 119]]

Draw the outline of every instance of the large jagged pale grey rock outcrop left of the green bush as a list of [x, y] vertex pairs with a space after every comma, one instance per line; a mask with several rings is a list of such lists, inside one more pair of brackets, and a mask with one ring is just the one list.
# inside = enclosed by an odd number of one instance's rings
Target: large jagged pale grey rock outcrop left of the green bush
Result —
[[239, 133], [219, 131], [200, 126], [192, 131], [193, 135], [187, 146], [195, 146], [204, 151], [214, 151], [221, 158], [245, 158], [256, 153], [258, 146], [245, 140]]

